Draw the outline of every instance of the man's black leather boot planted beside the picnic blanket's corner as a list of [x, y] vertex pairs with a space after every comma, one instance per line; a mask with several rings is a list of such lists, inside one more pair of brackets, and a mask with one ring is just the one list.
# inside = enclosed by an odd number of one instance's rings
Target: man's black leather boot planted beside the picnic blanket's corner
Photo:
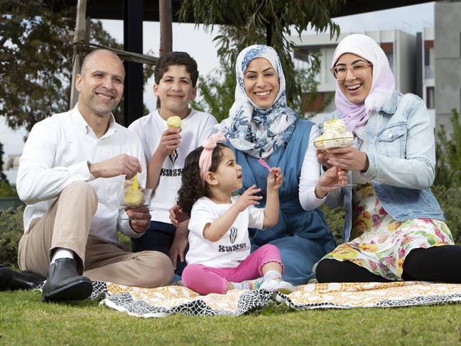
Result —
[[78, 275], [75, 259], [56, 259], [48, 269], [42, 301], [81, 301], [92, 290], [91, 280]]

